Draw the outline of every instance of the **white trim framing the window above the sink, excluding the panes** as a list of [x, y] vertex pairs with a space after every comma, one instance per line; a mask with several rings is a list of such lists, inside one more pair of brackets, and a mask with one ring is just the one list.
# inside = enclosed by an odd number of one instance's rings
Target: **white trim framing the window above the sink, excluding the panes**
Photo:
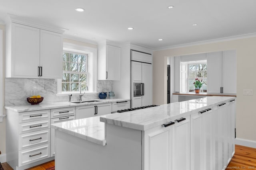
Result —
[[[92, 47], [85, 47], [82, 45], [76, 45], [72, 43], [63, 43], [63, 50], [64, 51], [73, 51], [77, 53], [87, 53], [89, 55], [89, 63], [92, 65], [92, 68], [90, 69], [90, 72], [92, 72], [92, 77], [90, 77], [92, 85], [92, 89], [89, 88], [89, 91], [86, 92], [86, 94], [94, 94], [96, 93], [97, 89], [97, 49], [92, 48]], [[62, 79], [57, 80], [57, 85], [58, 85], [58, 91], [57, 91], [57, 96], [62, 96], [66, 94], [79, 94], [80, 92], [62, 92], [61, 90], [61, 83]]]

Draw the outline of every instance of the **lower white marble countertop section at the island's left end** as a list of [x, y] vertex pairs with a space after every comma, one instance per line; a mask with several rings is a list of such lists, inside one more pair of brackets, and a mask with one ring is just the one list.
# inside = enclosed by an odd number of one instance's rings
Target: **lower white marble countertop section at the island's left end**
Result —
[[100, 116], [54, 123], [51, 127], [98, 145], [106, 145], [105, 123], [100, 122]]

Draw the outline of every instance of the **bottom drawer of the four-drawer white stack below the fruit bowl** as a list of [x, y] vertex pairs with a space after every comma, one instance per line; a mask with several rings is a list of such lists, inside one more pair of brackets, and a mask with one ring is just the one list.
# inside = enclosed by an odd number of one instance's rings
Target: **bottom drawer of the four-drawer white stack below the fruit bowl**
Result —
[[19, 151], [19, 166], [50, 157], [50, 143]]

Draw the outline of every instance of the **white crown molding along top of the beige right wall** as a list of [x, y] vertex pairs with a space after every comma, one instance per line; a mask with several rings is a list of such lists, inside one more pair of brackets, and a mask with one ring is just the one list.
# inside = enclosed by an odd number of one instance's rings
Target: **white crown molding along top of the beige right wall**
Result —
[[168, 46], [168, 47], [160, 47], [160, 48], [155, 48], [153, 51], [162, 51], [162, 50], [168, 50], [168, 49], [190, 47], [190, 46], [194, 46], [194, 45], [203, 45], [203, 44], [218, 43], [218, 42], [224, 42], [224, 41], [232, 41], [232, 40], [236, 40], [236, 39], [244, 39], [244, 38], [250, 38], [250, 37], [256, 37], [256, 33], [236, 35], [236, 36], [232, 36], [232, 37], [224, 37], [224, 38], [218, 38], [218, 39], [210, 39], [210, 40], [206, 40], [206, 41], [198, 41], [198, 42], [186, 43], [186, 44], [180, 44], [180, 45], [172, 45], [172, 46]]

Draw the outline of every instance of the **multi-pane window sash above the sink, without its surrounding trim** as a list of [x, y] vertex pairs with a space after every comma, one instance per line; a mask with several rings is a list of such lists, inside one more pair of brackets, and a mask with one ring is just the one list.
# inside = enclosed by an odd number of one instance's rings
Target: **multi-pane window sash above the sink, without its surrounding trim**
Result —
[[63, 52], [62, 92], [88, 91], [89, 74], [88, 54]]

